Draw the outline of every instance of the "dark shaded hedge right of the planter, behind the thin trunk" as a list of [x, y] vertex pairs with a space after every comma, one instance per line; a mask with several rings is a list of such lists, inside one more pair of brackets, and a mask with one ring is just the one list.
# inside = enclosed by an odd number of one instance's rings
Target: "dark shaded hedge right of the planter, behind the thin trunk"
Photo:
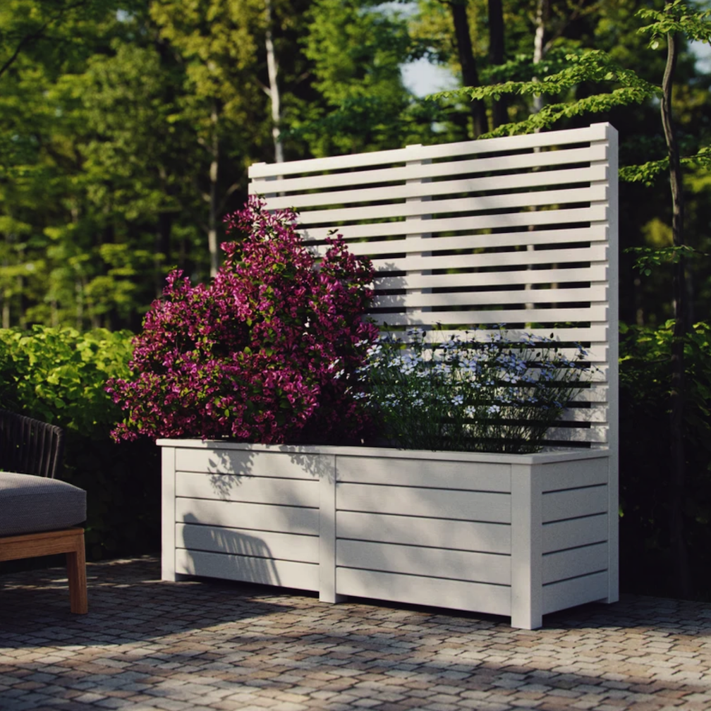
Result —
[[[624, 592], [673, 597], [670, 414], [673, 321], [621, 328], [620, 574]], [[711, 325], [685, 340], [683, 518], [693, 597], [711, 599]]]

